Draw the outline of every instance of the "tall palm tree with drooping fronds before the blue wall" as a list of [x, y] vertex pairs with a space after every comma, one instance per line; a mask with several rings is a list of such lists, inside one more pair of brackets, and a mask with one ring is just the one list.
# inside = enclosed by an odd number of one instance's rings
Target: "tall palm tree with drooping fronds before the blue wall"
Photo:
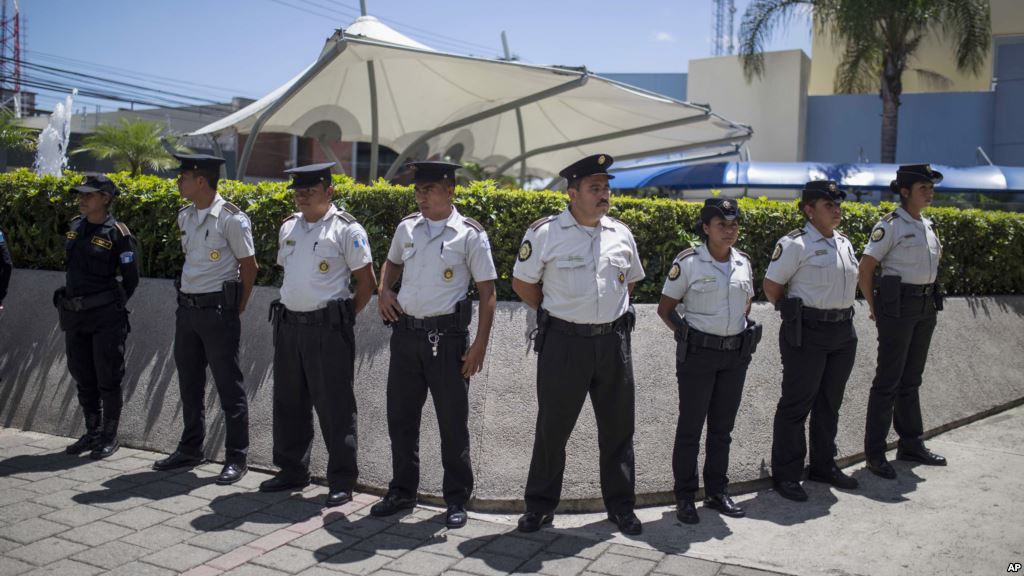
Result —
[[[814, 29], [824, 33], [843, 57], [836, 91], [882, 97], [882, 162], [896, 161], [902, 77], [926, 35], [949, 41], [956, 69], [977, 74], [991, 44], [988, 0], [754, 0], [739, 29], [739, 55], [750, 82], [764, 74], [764, 46], [776, 27], [810, 8]], [[918, 71], [942, 78], [929, 71]]]

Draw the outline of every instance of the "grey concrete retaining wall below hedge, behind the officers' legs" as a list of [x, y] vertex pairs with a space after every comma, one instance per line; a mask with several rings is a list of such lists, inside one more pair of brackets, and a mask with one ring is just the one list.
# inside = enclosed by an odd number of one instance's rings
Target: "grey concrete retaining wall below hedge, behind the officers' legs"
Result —
[[[15, 271], [0, 312], [0, 425], [62, 436], [82, 434], [75, 383], [67, 370], [63, 333], [50, 303], [63, 283], [55, 272]], [[273, 349], [266, 310], [273, 288], [258, 288], [243, 317], [242, 365], [250, 398], [251, 463], [272, 468]], [[132, 299], [122, 442], [170, 452], [181, 430], [172, 355], [174, 288], [144, 279]], [[634, 333], [636, 373], [637, 492], [641, 504], [671, 503], [672, 447], [678, 414], [674, 341], [652, 304], [639, 305]], [[390, 480], [385, 419], [389, 330], [373, 302], [356, 325], [356, 398], [359, 408], [360, 486], [381, 492]], [[856, 317], [860, 345], [840, 420], [840, 457], [861, 457], [867, 392], [874, 373], [876, 331], [866, 307]], [[781, 364], [777, 315], [756, 304], [765, 338], [754, 357], [736, 419], [730, 479], [738, 489], [762, 485], [771, 453], [771, 422], [778, 401]], [[479, 510], [521, 509], [534, 442], [536, 356], [526, 334], [534, 316], [523, 304], [502, 302], [484, 369], [470, 388], [470, 434]], [[207, 454], [222, 456], [223, 422], [212, 380], [207, 395]], [[1024, 296], [950, 298], [932, 342], [922, 393], [930, 434], [1019, 404], [1024, 399]], [[318, 435], [317, 435], [318, 436]], [[895, 437], [892, 437], [894, 439]], [[439, 501], [441, 469], [436, 417], [424, 409], [421, 461], [424, 500]], [[590, 405], [584, 407], [567, 447], [562, 509], [600, 510], [597, 436]], [[312, 472], [323, 475], [326, 454], [317, 439]], [[952, 463], [955, 465], [955, 462]]]

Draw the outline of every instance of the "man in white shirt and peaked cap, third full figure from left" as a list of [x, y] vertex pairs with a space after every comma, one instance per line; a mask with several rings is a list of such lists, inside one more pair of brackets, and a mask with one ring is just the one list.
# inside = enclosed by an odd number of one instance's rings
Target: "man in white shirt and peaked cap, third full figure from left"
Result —
[[[355, 463], [355, 316], [374, 292], [367, 232], [332, 204], [334, 162], [286, 170], [298, 212], [281, 227], [278, 264], [285, 269], [281, 299], [271, 304], [273, 346], [273, 463], [278, 476], [260, 491], [309, 483], [311, 407], [327, 445], [328, 506], [352, 499]], [[355, 277], [355, 295], [349, 279]]]

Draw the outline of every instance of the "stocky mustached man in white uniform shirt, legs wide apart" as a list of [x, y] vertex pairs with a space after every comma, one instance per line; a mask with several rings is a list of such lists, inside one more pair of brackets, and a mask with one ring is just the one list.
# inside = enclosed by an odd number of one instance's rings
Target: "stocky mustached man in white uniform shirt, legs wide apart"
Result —
[[537, 431], [519, 530], [554, 519], [565, 444], [590, 394], [600, 438], [601, 493], [624, 534], [643, 527], [633, 512], [634, 385], [630, 332], [633, 286], [643, 280], [633, 234], [608, 217], [612, 158], [598, 154], [560, 172], [569, 206], [526, 231], [512, 289], [538, 311]]

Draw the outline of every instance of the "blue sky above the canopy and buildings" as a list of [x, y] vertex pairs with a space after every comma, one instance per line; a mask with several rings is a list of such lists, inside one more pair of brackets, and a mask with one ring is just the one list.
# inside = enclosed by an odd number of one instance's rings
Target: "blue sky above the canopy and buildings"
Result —
[[[441, 51], [500, 56], [505, 31], [512, 53], [525, 63], [586, 66], [595, 73], [686, 72], [690, 59], [712, 53], [712, 0], [366, 1], [370, 14]], [[6, 2], [11, 10], [13, 0]], [[735, 0], [737, 32], [750, 3]], [[51, 84], [57, 77], [73, 85], [83, 81], [67, 72], [88, 74], [160, 88], [174, 94], [166, 95], [169, 100], [260, 97], [313, 61], [334, 30], [359, 15], [359, 0], [19, 0], [19, 5], [26, 18], [23, 76], [49, 78]], [[808, 18], [798, 17], [768, 49], [810, 54], [809, 29]], [[57, 97], [40, 91], [37, 106], [49, 110]], [[96, 105], [104, 111], [119, 106], [79, 97], [75, 108], [92, 111]]]

